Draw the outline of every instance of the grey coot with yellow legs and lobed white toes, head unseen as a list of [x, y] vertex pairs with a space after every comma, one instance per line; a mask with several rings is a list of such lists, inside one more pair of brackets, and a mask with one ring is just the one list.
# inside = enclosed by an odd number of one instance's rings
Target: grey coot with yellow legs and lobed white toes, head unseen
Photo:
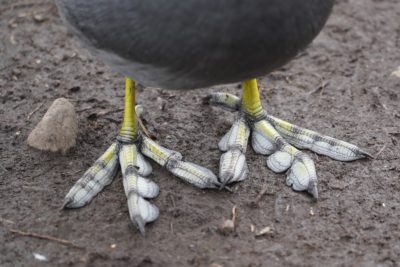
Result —
[[[131, 220], [144, 233], [158, 209], [146, 198], [158, 186], [145, 178], [143, 155], [200, 188], [224, 188], [246, 178], [247, 141], [268, 155], [275, 172], [288, 169], [287, 185], [318, 198], [317, 175], [307, 148], [341, 161], [369, 156], [349, 143], [267, 114], [255, 77], [282, 66], [308, 45], [325, 24], [333, 0], [56, 0], [63, 20], [101, 60], [125, 75], [125, 111], [117, 140], [72, 187], [65, 208], [86, 205], [110, 184], [121, 165]], [[165, 89], [195, 89], [243, 81], [241, 98], [226, 93], [211, 104], [238, 110], [222, 138], [218, 177], [161, 147], [137, 126], [135, 82]], [[293, 146], [292, 146], [293, 145]]]

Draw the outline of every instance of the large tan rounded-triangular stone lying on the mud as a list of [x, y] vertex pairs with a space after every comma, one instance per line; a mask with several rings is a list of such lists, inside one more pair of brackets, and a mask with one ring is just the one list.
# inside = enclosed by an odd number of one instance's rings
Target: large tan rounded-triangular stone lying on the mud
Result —
[[77, 134], [78, 119], [73, 105], [65, 98], [58, 98], [29, 134], [27, 142], [42, 151], [65, 154], [75, 146]]

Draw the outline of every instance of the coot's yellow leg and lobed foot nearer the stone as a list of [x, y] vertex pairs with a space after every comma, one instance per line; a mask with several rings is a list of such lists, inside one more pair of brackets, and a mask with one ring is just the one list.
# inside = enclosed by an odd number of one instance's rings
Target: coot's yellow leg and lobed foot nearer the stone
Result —
[[126, 78], [124, 119], [117, 141], [70, 189], [64, 200], [64, 208], [80, 208], [88, 204], [105, 186], [111, 184], [119, 162], [131, 221], [144, 234], [146, 223], [156, 220], [159, 215], [158, 208], [147, 200], [155, 198], [159, 188], [146, 178], [152, 172], [152, 167], [143, 155], [196, 187], [221, 186], [217, 176], [210, 170], [183, 161], [179, 152], [166, 149], [144, 136], [137, 123], [141, 114], [141, 107], [135, 108], [135, 83]]

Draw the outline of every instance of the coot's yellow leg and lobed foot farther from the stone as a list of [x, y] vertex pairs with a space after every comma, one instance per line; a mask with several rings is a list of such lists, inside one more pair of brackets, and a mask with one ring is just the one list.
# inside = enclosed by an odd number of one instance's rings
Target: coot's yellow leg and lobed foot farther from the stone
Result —
[[255, 79], [243, 82], [241, 99], [228, 93], [214, 93], [208, 100], [212, 105], [239, 111], [239, 118], [219, 143], [220, 150], [225, 152], [220, 160], [222, 186], [246, 178], [245, 152], [250, 133], [254, 151], [268, 156], [267, 166], [274, 172], [290, 168], [286, 184], [295, 191], [309, 192], [315, 199], [318, 198], [318, 188], [314, 162], [295, 147], [339, 161], [372, 158], [355, 145], [268, 115], [261, 105]]

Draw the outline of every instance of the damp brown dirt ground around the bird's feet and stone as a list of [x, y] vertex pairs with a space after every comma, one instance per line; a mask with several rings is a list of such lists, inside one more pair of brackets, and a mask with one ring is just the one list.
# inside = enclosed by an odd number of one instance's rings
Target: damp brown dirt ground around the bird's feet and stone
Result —
[[[87, 207], [59, 209], [116, 136], [123, 78], [80, 48], [52, 1], [0, 0], [0, 266], [399, 266], [400, 78], [391, 75], [400, 65], [399, 22], [398, 0], [338, 1], [302, 56], [260, 78], [271, 114], [381, 152], [375, 160], [310, 153], [318, 202], [286, 187], [251, 150], [250, 177], [234, 193], [197, 190], [155, 166], [161, 215], [143, 237], [129, 220], [120, 174]], [[311, 93], [321, 81], [329, 84]], [[218, 89], [239, 93], [237, 85]], [[214, 90], [141, 90], [138, 99], [154, 111], [148, 121], [163, 145], [217, 173], [217, 142], [234, 115], [202, 104]], [[65, 156], [29, 148], [29, 132], [61, 96], [79, 114], [77, 146]], [[249, 205], [265, 186], [258, 207]], [[234, 205], [236, 234], [223, 236], [217, 226]], [[250, 224], [273, 233], [255, 237]]]

